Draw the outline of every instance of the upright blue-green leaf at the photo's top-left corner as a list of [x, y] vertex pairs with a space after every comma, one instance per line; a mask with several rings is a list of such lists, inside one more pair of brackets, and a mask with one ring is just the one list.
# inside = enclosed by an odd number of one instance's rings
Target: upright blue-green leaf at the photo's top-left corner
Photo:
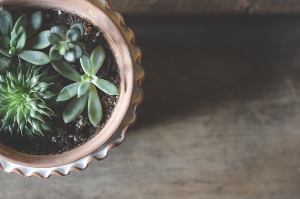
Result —
[[10, 11], [6, 10], [3, 7], [0, 8], [0, 22], [0, 31], [2, 35], [9, 37], [10, 32], [13, 28], [13, 16], [11, 15]]

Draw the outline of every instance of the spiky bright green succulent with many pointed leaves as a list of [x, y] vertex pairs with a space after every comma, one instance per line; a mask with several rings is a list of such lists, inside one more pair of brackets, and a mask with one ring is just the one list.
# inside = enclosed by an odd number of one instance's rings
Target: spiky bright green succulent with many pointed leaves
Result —
[[61, 89], [49, 66], [13, 62], [0, 75], [1, 131], [27, 135], [43, 135], [42, 130], [51, 130], [50, 116], [55, 116], [59, 106], [57, 90]]

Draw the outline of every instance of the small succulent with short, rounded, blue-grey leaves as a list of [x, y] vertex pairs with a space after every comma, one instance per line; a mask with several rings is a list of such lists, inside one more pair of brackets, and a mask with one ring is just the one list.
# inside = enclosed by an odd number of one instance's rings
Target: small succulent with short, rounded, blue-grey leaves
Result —
[[65, 26], [53, 26], [48, 33], [48, 40], [53, 45], [50, 48], [49, 58], [61, 60], [63, 57], [68, 62], [75, 62], [83, 56], [84, 44], [79, 40], [83, 38], [83, 25], [74, 23], [68, 30]]

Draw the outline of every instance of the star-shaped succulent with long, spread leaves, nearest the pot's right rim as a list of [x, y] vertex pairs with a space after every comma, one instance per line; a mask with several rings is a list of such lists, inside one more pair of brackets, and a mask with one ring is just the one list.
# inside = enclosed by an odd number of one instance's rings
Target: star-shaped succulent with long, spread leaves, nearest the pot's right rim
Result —
[[[88, 103], [88, 118], [97, 127], [102, 119], [102, 106], [96, 87], [109, 95], [119, 95], [118, 88], [107, 80], [98, 78], [96, 73], [100, 69], [105, 59], [105, 51], [102, 45], [96, 47], [91, 53], [91, 58], [84, 53], [80, 63], [84, 75], [74, 69], [65, 60], [52, 61], [55, 70], [64, 77], [75, 81], [61, 89], [56, 101], [64, 101], [74, 97], [64, 108], [62, 116], [65, 123], [76, 119]], [[96, 86], [96, 87], [95, 87]]]

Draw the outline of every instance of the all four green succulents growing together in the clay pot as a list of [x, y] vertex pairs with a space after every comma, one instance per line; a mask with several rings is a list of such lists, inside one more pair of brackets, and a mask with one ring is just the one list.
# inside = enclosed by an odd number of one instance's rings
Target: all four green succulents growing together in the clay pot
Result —
[[[88, 118], [95, 127], [102, 118], [98, 87], [109, 95], [119, 95], [118, 88], [97, 76], [105, 59], [102, 45], [91, 57], [85, 52], [81, 23], [53, 26], [38, 32], [42, 12], [27, 17], [0, 8], [0, 122], [1, 132], [23, 133], [33, 137], [49, 131], [52, 116], [57, 116], [62, 101], [70, 100], [62, 111], [65, 123], [76, 119], [88, 106]], [[48, 46], [49, 56], [38, 51]], [[84, 75], [70, 64], [80, 59]], [[55, 70], [75, 83], [62, 87]], [[72, 99], [73, 98], [73, 99]]]

